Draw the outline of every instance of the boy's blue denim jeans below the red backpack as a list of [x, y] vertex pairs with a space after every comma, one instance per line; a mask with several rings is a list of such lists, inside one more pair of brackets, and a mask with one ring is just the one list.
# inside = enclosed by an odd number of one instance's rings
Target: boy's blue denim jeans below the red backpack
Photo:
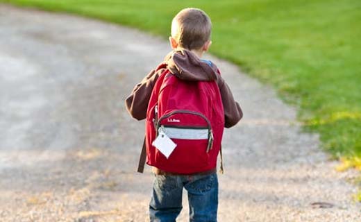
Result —
[[217, 173], [196, 176], [156, 175], [149, 204], [151, 222], [175, 222], [182, 210], [183, 187], [188, 192], [191, 222], [217, 221]]

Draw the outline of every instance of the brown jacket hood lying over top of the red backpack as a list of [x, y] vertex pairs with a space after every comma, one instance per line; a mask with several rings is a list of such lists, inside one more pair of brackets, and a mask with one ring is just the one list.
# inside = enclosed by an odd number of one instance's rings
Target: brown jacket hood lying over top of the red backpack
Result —
[[171, 51], [166, 57], [167, 68], [176, 77], [187, 81], [217, 80], [217, 67], [209, 60], [201, 60], [188, 50]]

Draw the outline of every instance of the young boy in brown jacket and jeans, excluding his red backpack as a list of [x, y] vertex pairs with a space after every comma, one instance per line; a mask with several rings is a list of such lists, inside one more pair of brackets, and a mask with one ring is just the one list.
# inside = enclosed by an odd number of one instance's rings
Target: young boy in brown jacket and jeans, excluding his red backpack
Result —
[[[242, 118], [228, 85], [209, 60], [201, 60], [208, 51], [212, 24], [208, 15], [196, 8], [178, 12], [171, 23], [171, 53], [164, 64], [171, 74], [184, 81], [215, 81], [224, 108], [224, 127], [234, 126]], [[146, 110], [158, 77], [165, 71], [151, 71], [126, 99], [126, 108], [135, 119], [145, 119]], [[192, 154], [190, 154], [192, 155]], [[170, 173], [153, 167], [155, 181], [149, 205], [151, 221], [176, 221], [182, 210], [183, 187], [188, 192], [190, 221], [217, 221], [218, 180], [216, 169], [190, 175]]]

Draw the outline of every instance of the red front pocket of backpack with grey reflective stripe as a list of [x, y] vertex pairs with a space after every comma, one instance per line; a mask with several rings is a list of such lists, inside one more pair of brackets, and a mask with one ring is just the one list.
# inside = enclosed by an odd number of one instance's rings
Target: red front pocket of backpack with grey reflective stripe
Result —
[[157, 153], [157, 162], [185, 172], [207, 167], [212, 148], [212, 129], [203, 114], [176, 110], [160, 117], [157, 133], [165, 133], [177, 146], [168, 159]]

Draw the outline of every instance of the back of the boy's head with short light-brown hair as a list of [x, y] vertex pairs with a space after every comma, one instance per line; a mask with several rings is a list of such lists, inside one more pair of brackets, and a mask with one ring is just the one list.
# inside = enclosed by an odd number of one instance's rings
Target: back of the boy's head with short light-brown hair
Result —
[[210, 40], [212, 22], [203, 10], [185, 8], [171, 22], [171, 37], [183, 49], [201, 49]]

